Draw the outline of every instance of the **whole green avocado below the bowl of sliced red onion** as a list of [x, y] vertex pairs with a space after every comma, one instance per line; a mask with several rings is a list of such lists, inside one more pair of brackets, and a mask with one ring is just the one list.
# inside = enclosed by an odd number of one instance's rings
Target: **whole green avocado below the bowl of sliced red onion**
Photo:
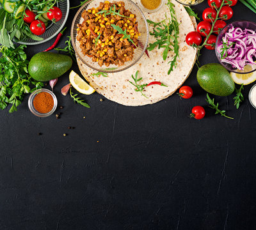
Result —
[[230, 73], [217, 63], [209, 63], [200, 67], [196, 78], [200, 86], [213, 95], [228, 96], [235, 90]]

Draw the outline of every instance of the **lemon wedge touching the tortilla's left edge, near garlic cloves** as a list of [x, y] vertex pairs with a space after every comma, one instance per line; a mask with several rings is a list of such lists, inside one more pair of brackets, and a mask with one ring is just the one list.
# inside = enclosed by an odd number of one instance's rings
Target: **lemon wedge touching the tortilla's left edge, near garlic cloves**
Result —
[[95, 92], [95, 89], [92, 86], [88, 85], [79, 75], [73, 70], [69, 74], [69, 81], [72, 86], [79, 91], [79, 93], [83, 93], [85, 95], [91, 95]]

